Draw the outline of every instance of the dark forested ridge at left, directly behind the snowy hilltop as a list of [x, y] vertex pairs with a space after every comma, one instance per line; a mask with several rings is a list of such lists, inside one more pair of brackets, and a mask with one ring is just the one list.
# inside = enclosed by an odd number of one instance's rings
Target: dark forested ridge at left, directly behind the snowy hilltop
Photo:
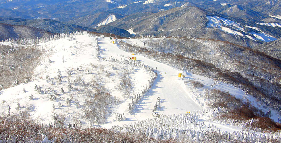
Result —
[[[100, 27], [99, 30], [82, 27], [52, 19], [21, 19], [0, 17], [0, 40], [6, 38], [33, 38], [44, 37], [55, 33], [70, 33], [75, 31], [90, 31], [97, 33], [112, 33], [121, 37], [133, 37], [128, 31], [109, 25]], [[26, 31], [26, 33], [24, 33]]]

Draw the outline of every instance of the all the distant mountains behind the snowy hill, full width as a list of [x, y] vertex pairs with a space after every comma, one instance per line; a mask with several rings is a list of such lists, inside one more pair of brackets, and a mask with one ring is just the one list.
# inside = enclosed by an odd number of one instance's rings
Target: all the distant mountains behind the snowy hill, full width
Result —
[[[266, 24], [281, 23], [280, 5], [281, 0], [0, 0], [0, 15], [15, 17], [1, 18], [0, 23], [49, 33], [189, 36], [254, 46], [281, 38], [280, 27]], [[207, 16], [239, 23], [241, 28], [220, 21], [212, 25]]]

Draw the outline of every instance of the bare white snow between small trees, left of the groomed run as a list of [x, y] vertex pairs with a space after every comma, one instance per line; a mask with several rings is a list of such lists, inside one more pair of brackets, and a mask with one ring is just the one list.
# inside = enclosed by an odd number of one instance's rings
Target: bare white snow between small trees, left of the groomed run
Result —
[[[106, 38], [109, 43], [109, 38]], [[77, 42], [76, 42], [77, 41]], [[17, 112], [17, 102], [19, 102], [21, 108], [19, 110], [28, 110], [32, 116], [32, 118], [36, 121], [42, 122], [43, 124], [49, 124], [53, 122], [52, 115], [56, 113], [60, 116], [65, 116], [65, 125], [68, 123], [73, 124], [74, 117], [77, 117], [78, 120], [84, 122], [84, 126], [89, 126], [89, 122], [80, 118], [80, 113], [82, 108], [76, 107], [74, 104], [67, 105], [66, 98], [69, 98], [70, 95], [73, 97], [74, 100], [78, 100], [81, 106], [84, 105], [84, 96], [78, 96], [79, 94], [75, 91], [67, 91], [68, 82], [67, 78], [71, 81], [76, 80], [77, 77], [82, 77], [85, 82], [89, 82], [93, 79], [94, 76], [97, 76], [99, 73], [101, 65], [104, 65], [106, 71], [110, 71], [113, 75], [103, 78], [99, 78], [100, 84], [104, 85], [105, 88], [111, 92], [111, 95], [115, 96], [119, 101], [120, 104], [118, 105], [111, 105], [109, 108], [113, 111], [107, 119], [108, 122], [113, 122], [115, 120], [115, 113], [120, 112], [121, 114], [124, 113], [126, 117], [130, 117], [128, 112], [128, 104], [131, 103], [129, 98], [124, 98], [122, 96], [123, 92], [120, 92], [116, 89], [119, 84], [118, 80], [118, 73], [122, 74], [122, 69], [127, 68], [131, 69], [130, 65], [120, 65], [115, 64], [114, 66], [116, 69], [109, 69], [110, 64], [107, 60], [98, 60], [96, 58], [97, 52], [95, 51], [95, 45], [97, 41], [95, 41], [95, 37], [91, 37], [88, 35], [77, 35], [74, 40], [69, 41], [67, 38], [53, 40], [46, 43], [41, 43], [40, 48], [46, 50], [46, 53], [43, 55], [42, 61], [40, 62], [41, 65], [34, 69], [34, 80], [32, 82], [28, 82], [27, 84], [20, 84], [18, 86], [8, 88], [5, 90], [1, 90], [0, 101], [5, 100], [5, 104], [0, 106], [0, 112], [6, 112], [6, 108], [9, 105], [11, 108], [11, 113]], [[105, 50], [101, 46], [101, 50]], [[108, 51], [101, 51], [101, 57], [108, 59], [110, 56], [115, 56], [116, 54], [111, 54], [112, 50]], [[121, 60], [120, 55], [116, 55]], [[132, 57], [132, 55], [130, 55]], [[64, 62], [62, 59], [64, 58]], [[126, 57], [122, 57], [123, 59]], [[51, 60], [51, 62], [48, 61]], [[97, 69], [92, 69], [91, 65], [97, 65]], [[79, 71], [75, 71], [79, 67]], [[72, 76], [69, 77], [67, 73], [67, 69], [72, 71]], [[61, 84], [57, 84], [57, 80], [54, 78], [57, 77], [59, 74], [57, 71], [60, 71], [62, 75], [62, 82]], [[84, 71], [90, 70], [93, 74], [84, 74]], [[116, 73], [116, 74], [115, 74]], [[50, 80], [46, 82], [45, 77], [50, 77]], [[146, 72], [142, 68], [135, 68], [133, 72], [129, 74], [132, 80], [132, 95], [136, 94], [137, 92], [141, 92], [143, 86], [148, 84], [148, 80], [151, 78], [151, 74]], [[52, 84], [54, 82], [54, 84]], [[42, 90], [47, 89], [47, 87], [53, 88], [57, 91], [58, 97], [57, 101], [50, 100], [48, 94], [37, 94], [34, 90], [34, 85], [38, 85], [41, 87]], [[83, 89], [83, 87], [79, 85], [72, 85], [73, 88]], [[22, 90], [26, 91], [25, 93]], [[61, 93], [61, 88], [64, 89], [66, 92], [65, 94]], [[5, 96], [6, 95], [6, 96]], [[33, 95], [33, 100], [29, 99], [29, 96]], [[62, 104], [59, 107], [59, 102]], [[55, 105], [56, 109], [53, 110], [53, 104]]]

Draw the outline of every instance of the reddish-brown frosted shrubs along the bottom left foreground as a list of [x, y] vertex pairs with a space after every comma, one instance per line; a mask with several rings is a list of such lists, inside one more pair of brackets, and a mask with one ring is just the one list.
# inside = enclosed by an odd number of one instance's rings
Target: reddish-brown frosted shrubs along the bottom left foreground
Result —
[[10, 116], [4, 114], [0, 117], [0, 138], [2, 142], [8, 140], [15, 143], [41, 142], [42, 133], [49, 140], [57, 138], [55, 142], [62, 143], [180, 143], [177, 140], [148, 139], [144, 134], [139, 133], [114, 133], [113, 130], [105, 128], [41, 126], [34, 123], [26, 112]]

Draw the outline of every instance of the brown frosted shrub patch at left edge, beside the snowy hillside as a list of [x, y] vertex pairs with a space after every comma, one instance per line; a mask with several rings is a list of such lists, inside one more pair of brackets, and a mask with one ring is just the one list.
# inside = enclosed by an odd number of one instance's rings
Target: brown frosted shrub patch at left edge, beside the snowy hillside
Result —
[[0, 46], [0, 51], [0, 84], [6, 89], [14, 86], [15, 80], [18, 84], [29, 82], [42, 52], [36, 47], [10, 46]]

